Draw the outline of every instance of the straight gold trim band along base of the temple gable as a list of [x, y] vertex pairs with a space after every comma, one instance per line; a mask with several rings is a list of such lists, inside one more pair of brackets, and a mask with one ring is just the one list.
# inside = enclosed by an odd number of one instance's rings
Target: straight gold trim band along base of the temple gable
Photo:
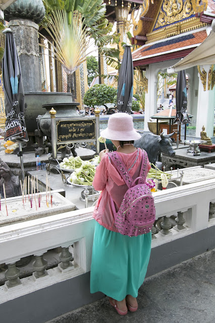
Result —
[[152, 31], [151, 33], [146, 34], [147, 41], [146, 44], [162, 40], [168, 37], [176, 36], [184, 32], [196, 30], [206, 26], [205, 23], [200, 22], [199, 18], [190, 18], [187, 21], [182, 21], [175, 25], [166, 26], [159, 31]]

